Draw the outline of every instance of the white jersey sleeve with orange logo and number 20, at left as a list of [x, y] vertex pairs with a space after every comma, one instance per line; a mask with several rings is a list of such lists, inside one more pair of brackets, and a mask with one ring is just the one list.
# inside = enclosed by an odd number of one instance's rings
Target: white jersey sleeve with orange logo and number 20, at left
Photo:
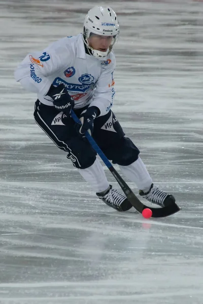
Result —
[[69, 50], [63, 46], [29, 53], [15, 70], [15, 79], [24, 89], [46, 95], [52, 84], [47, 77], [69, 64], [70, 58]]

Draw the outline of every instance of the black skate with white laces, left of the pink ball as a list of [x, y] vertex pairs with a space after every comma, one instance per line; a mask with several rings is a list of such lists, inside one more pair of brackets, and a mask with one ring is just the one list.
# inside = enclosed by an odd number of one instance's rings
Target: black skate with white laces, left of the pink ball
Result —
[[118, 211], [127, 211], [132, 207], [126, 196], [119, 193], [116, 189], [112, 189], [112, 185], [106, 191], [96, 193], [96, 195], [108, 206]]

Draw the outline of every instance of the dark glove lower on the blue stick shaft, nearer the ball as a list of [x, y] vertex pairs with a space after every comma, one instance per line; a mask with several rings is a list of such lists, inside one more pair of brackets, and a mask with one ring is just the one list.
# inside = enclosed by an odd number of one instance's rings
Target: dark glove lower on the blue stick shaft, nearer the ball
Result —
[[80, 121], [82, 125], [80, 126], [80, 135], [85, 136], [85, 132], [88, 131], [90, 135], [93, 133], [94, 119], [100, 114], [99, 108], [96, 106], [90, 106], [80, 115]]

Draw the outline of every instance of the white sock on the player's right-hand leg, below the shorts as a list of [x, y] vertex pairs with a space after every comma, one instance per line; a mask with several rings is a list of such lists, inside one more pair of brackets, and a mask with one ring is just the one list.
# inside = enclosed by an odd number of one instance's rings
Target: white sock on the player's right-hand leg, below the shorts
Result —
[[149, 191], [152, 184], [152, 179], [140, 157], [138, 157], [137, 161], [128, 166], [119, 167], [122, 173], [125, 174], [125, 176], [131, 181], [136, 183], [140, 190], [143, 190], [144, 192]]

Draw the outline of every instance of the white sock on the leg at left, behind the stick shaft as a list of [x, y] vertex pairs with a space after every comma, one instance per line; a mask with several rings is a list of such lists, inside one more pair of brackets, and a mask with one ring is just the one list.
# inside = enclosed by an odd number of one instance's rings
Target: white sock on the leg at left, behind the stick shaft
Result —
[[97, 159], [89, 168], [78, 169], [78, 172], [95, 192], [103, 192], [109, 187], [105, 171]]

